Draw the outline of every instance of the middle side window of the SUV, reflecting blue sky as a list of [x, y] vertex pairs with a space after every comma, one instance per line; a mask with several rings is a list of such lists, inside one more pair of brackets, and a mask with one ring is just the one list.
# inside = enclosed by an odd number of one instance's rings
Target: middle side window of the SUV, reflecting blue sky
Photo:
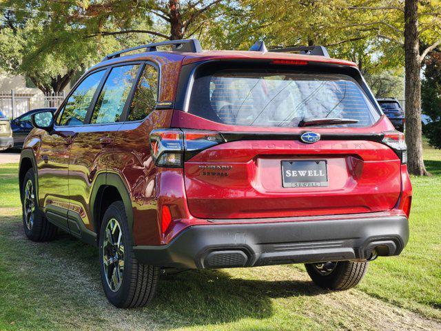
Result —
[[139, 65], [112, 68], [96, 101], [90, 123], [119, 121], [138, 70]]

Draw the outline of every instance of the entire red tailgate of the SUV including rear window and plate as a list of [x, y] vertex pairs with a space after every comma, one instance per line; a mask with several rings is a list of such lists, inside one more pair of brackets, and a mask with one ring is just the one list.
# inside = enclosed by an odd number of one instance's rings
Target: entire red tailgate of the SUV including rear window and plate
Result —
[[[398, 201], [400, 159], [380, 143], [367, 92], [345, 74], [207, 70], [196, 74], [181, 118], [225, 139], [185, 162], [195, 217], [380, 212]], [[355, 123], [302, 126], [314, 119]]]

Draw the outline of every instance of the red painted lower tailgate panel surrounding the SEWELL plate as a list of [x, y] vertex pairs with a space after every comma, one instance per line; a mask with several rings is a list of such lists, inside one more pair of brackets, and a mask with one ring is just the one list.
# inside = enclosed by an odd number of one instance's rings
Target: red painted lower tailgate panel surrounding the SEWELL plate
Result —
[[[287, 159], [327, 160], [329, 186], [283, 188], [280, 161]], [[351, 167], [354, 159], [359, 175]], [[232, 170], [227, 177], [204, 176], [199, 166], [210, 163]], [[189, 210], [201, 218], [378, 212], [393, 208], [400, 197], [400, 160], [387, 146], [369, 141], [319, 141], [308, 149], [298, 141], [235, 141], [185, 163], [185, 187]]]

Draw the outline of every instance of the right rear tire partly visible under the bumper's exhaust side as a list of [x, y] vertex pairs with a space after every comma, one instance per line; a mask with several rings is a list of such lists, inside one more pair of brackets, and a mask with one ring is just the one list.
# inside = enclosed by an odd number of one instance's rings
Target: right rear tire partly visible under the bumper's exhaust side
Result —
[[[305, 267], [309, 277], [311, 277], [316, 285], [329, 290], [347, 290], [353, 288], [360, 283], [363, 276], [365, 276], [368, 265], [367, 262], [356, 261], [327, 263], [335, 263], [334, 268], [329, 268], [329, 271], [320, 270], [318, 267], [325, 265], [325, 263], [308, 263], [305, 264]], [[321, 268], [323, 267], [321, 266]]]

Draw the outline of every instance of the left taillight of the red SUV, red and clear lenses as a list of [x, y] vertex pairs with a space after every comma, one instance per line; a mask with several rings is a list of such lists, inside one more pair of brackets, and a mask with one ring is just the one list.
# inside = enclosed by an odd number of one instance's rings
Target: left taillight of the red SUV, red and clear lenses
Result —
[[158, 129], [150, 133], [150, 148], [158, 167], [182, 168], [184, 161], [219, 143], [225, 142], [218, 132], [185, 129]]

